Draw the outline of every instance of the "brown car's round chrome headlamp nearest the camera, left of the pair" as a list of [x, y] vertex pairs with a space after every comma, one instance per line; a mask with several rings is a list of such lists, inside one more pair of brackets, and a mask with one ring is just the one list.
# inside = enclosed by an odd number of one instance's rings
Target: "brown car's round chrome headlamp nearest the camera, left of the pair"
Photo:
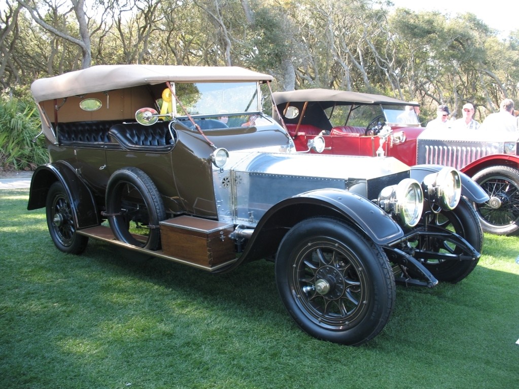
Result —
[[405, 178], [398, 185], [385, 187], [378, 196], [378, 205], [406, 227], [414, 227], [424, 210], [424, 193], [417, 180]]

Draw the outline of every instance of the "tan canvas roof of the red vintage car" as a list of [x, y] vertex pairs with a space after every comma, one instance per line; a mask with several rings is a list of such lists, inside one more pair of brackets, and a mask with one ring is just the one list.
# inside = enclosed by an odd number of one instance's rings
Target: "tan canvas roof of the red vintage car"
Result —
[[419, 105], [380, 94], [340, 91], [333, 89], [299, 89], [288, 92], [272, 93], [276, 104], [291, 101], [342, 102], [346, 104], [387, 104], [387, 105]]

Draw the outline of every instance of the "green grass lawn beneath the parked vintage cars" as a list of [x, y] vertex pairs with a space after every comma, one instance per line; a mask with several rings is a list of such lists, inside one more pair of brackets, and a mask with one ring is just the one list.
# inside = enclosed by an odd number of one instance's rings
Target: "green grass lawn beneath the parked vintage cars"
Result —
[[519, 238], [459, 284], [397, 289], [358, 348], [298, 329], [271, 263], [211, 275], [91, 240], [59, 252], [28, 190], [0, 191], [0, 387], [515, 388]]

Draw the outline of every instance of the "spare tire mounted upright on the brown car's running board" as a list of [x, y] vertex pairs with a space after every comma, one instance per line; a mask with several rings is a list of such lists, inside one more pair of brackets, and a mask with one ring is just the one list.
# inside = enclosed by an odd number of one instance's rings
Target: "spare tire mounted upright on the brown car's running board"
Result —
[[157, 187], [142, 170], [124, 168], [112, 174], [106, 186], [106, 215], [119, 241], [160, 248], [159, 221], [166, 211]]

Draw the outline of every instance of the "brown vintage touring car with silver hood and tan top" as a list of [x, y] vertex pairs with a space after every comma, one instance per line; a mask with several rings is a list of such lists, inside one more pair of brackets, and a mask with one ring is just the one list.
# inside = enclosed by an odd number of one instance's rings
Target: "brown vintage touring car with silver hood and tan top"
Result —
[[296, 152], [262, 112], [270, 80], [113, 65], [34, 81], [50, 162], [28, 209], [46, 207], [66, 253], [93, 238], [213, 273], [272, 260], [299, 327], [362, 344], [387, 323], [395, 282], [432, 287], [474, 269], [482, 230], [461, 191], [485, 193], [450, 168]]

